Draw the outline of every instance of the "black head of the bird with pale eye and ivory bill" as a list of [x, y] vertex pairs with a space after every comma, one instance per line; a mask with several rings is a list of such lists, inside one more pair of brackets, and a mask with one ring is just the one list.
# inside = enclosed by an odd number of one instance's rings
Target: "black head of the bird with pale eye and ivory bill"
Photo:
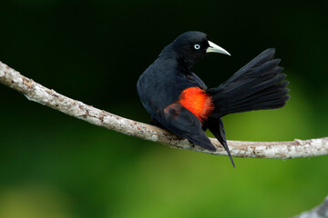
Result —
[[189, 31], [179, 35], [163, 50], [162, 54], [172, 52], [190, 67], [208, 53], [231, 55], [219, 45], [210, 42], [208, 35], [198, 31]]

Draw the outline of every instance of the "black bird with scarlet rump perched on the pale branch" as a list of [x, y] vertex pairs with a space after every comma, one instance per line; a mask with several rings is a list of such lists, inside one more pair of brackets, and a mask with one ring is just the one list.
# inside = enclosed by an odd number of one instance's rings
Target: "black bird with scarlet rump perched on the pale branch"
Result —
[[205, 134], [209, 129], [235, 167], [221, 117], [284, 106], [290, 98], [289, 82], [279, 66], [281, 59], [275, 59], [275, 49], [269, 48], [224, 83], [208, 88], [192, 69], [200, 58], [214, 53], [231, 55], [212, 43], [208, 35], [185, 32], [165, 46], [139, 76], [137, 90], [141, 103], [151, 115], [150, 124], [215, 152], [216, 147]]

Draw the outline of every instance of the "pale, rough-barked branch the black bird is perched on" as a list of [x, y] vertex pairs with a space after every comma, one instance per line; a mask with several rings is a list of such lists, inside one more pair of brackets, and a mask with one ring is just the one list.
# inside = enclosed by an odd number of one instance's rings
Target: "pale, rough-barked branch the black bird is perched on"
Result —
[[[30, 101], [46, 105], [62, 113], [87, 121], [90, 124], [115, 130], [121, 134], [128, 134], [160, 144], [169, 144], [174, 148], [189, 149], [207, 154], [226, 155], [220, 143], [211, 138], [210, 141], [217, 147], [216, 152], [210, 152], [187, 139], [181, 139], [168, 131], [156, 126], [139, 123], [99, 110], [93, 106], [58, 94], [32, 79], [19, 74], [14, 69], [0, 62], [0, 83], [24, 94]], [[296, 158], [328, 154], [328, 137], [310, 140], [295, 139], [293, 142], [241, 142], [228, 141], [232, 156], [261, 157], [261, 158]]]

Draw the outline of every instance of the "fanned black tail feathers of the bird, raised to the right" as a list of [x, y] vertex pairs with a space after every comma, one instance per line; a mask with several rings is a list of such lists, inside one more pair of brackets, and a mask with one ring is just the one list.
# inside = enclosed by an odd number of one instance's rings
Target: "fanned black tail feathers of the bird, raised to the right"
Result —
[[278, 66], [280, 59], [272, 59], [274, 49], [267, 49], [233, 74], [217, 88], [208, 89], [215, 109], [211, 116], [282, 107], [290, 98], [286, 74]]

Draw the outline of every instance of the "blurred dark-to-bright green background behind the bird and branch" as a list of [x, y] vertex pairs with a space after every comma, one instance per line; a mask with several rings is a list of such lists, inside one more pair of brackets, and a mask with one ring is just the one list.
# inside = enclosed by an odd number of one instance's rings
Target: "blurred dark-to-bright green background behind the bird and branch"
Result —
[[[292, 98], [224, 117], [228, 139], [328, 136], [328, 2], [0, 2], [0, 60], [86, 104], [149, 122], [138, 76], [161, 49], [200, 30], [232, 56], [208, 55], [209, 85], [276, 47]], [[235, 158], [171, 149], [87, 124], [0, 84], [0, 217], [290, 217], [328, 194], [328, 156]]]

